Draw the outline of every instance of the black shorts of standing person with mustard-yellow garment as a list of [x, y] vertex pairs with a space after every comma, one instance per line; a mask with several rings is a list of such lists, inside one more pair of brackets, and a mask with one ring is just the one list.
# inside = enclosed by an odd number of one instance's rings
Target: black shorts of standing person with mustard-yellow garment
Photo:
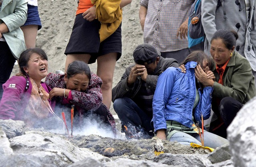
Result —
[[68, 54], [90, 54], [88, 64], [94, 63], [98, 56], [108, 53], [118, 53], [117, 59], [122, 54], [121, 24], [116, 31], [100, 43], [100, 22], [95, 19], [92, 22], [83, 18], [82, 14], [76, 15], [72, 33], [65, 50]]

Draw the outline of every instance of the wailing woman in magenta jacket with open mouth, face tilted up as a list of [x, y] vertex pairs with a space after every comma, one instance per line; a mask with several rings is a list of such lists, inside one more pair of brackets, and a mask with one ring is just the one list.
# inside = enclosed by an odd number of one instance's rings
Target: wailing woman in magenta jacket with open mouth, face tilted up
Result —
[[21, 73], [3, 84], [0, 119], [24, 120], [27, 126], [37, 127], [36, 124], [54, 114], [49, 100], [51, 88], [41, 82], [48, 74], [47, 60], [46, 53], [39, 48], [21, 53], [18, 60]]

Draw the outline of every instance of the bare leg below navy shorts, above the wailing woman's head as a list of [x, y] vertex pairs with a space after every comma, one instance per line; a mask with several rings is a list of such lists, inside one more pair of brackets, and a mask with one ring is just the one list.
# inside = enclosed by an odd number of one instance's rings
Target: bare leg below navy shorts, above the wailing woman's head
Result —
[[21, 26], [20, 28], [24, 33], [27, 49], [36, 47], [36, 35], [37, 35], [38, 26], [27, 25], [27, 26]]

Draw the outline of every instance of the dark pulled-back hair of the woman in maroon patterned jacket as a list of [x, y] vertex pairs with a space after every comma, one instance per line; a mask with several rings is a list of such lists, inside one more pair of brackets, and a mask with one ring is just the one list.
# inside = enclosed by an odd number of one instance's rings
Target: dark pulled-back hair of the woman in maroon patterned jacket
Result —
[[91, 79], [90, 67], [83, 61], [73, 61], [72, 63], [70, 63], [68, 65], [68, 69], [66, 73], [67, 73], [68, 79], [76, 74], [85, 74], [87, 75], [89, 80]]

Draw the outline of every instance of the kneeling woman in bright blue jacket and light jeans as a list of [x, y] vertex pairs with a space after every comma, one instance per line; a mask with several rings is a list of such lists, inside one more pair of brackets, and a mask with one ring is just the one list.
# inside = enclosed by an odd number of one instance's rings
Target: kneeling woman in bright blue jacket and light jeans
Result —
[[[201, 145], [193, 124], [202, 128], [201, 116], [204, 120], [210, 117], [214, 81], [207, 79], [206, 72], [214, 62], [203, 51], [194, 51], [182, 64], [186, 73], [169, 67], [158, 78], [153, 98], [154, 130], [161, 139]], [[227, 143], [227, 139], [204, 131], [205, 146], [216, 148]]]

